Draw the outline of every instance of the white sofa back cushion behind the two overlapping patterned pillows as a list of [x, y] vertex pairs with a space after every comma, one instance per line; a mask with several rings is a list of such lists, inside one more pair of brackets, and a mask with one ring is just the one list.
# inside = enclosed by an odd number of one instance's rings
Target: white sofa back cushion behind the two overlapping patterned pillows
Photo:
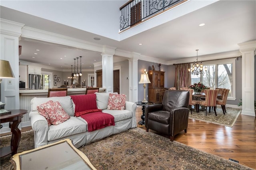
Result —
[[31, 111], [38, 111], [36, 106], [46, 103], [49, 100], [52, 100], [53, 102], [60, 102], [62, 108], [65, 110], [65, 112], [69, 116], [74, 116], [74, 108], [73, 108], [73, 102], [70, 96], [64, 96], [64, 97], [48, 97], [48, 98], [32, 98], [30, 101], [31, 104]]

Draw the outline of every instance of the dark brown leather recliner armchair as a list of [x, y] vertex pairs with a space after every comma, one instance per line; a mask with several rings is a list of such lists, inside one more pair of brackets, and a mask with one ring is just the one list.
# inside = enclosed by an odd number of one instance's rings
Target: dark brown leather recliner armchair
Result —
[[182, 130], [187, 132], [189, 115], [189, 92], [165, 90], [162, 104], [145, 106], [145, 126], [164, 135], [174, 136]]

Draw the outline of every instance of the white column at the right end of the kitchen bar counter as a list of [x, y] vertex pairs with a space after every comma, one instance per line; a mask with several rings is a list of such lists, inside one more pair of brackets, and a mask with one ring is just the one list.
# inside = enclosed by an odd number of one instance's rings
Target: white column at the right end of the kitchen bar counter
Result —
[[102, 53], [102, 87], [106, 88], [107, 93], [113, 93], [113, 55], [115, 53], [113, 47], [104, 46]]

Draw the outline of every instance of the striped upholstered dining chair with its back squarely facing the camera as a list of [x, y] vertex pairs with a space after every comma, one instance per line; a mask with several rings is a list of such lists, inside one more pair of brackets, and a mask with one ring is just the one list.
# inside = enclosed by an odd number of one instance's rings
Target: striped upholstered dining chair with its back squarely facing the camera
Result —
[[205, 100], [200, 100], [199, 104], [206, 106], [205, 116], [207, 116], [207, 107], [209, 108], [209, 113], [211, 112], [211, 106], [213, 106], [213, 110], [215, 112], [215, 115], [217, 116], [216, 100], [217, 100], [217, 96], [218, 96], [218, 91], [219, 91], [218, 89], [217, 90], [209, 90], [209, 89], [204, 90]]

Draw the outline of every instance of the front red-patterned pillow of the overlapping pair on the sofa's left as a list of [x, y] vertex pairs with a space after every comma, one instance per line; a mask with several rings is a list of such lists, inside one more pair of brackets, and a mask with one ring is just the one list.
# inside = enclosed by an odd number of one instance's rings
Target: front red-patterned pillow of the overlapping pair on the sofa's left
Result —
[[61, 124], [70, 118], [58, 101], [45, 104], [44, 110], [49, 115], [51, 124], [53, 125]]

